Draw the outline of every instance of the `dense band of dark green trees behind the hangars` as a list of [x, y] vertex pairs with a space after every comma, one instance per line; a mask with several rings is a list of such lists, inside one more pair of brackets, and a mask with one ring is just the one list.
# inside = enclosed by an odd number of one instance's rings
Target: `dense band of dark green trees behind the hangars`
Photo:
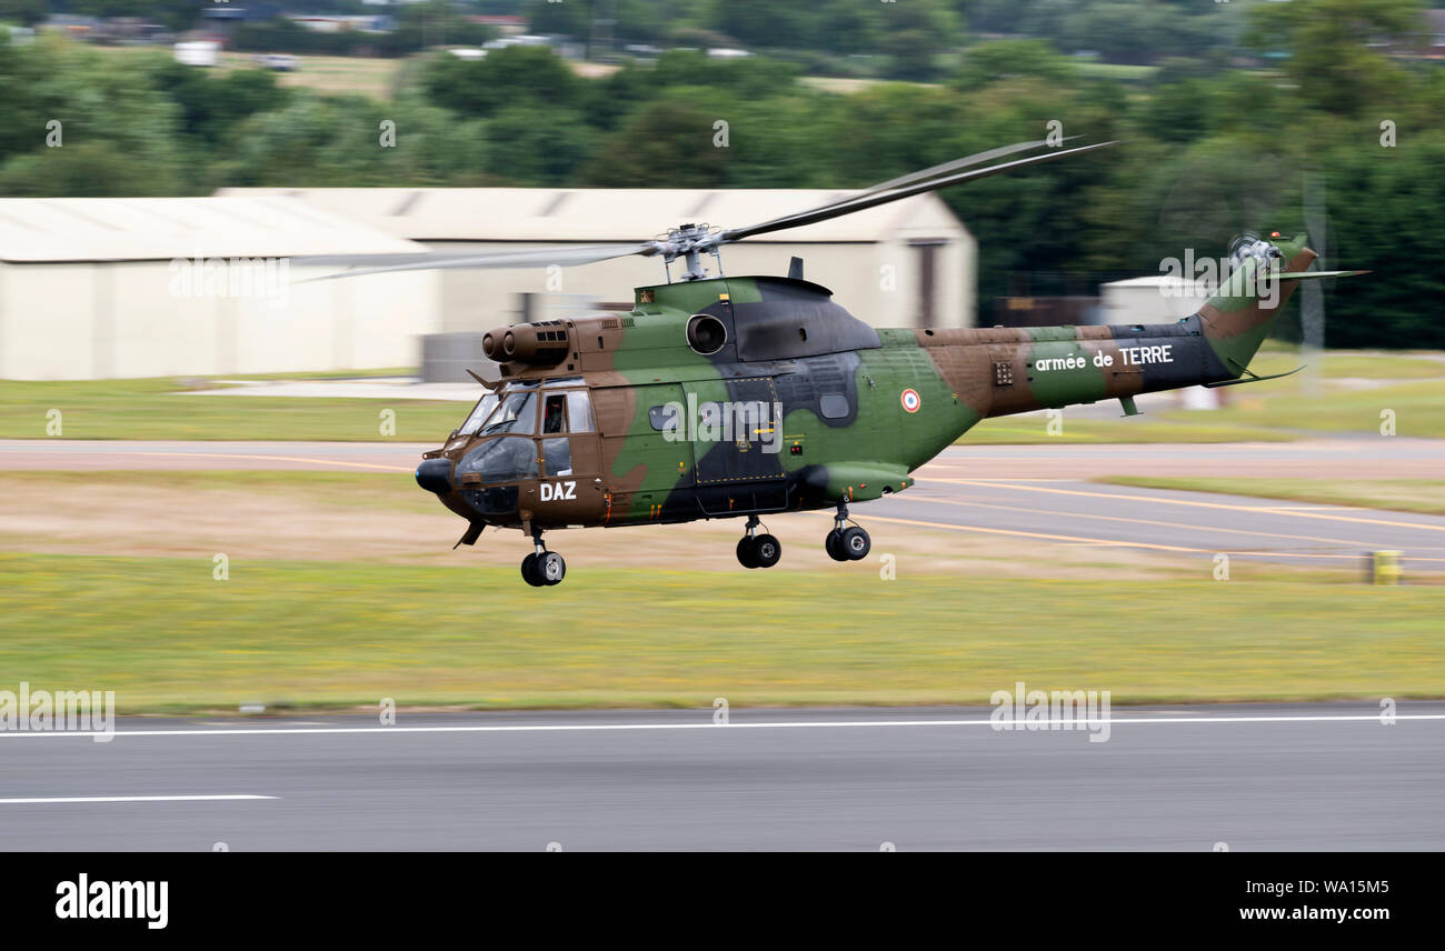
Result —
[[[675, 52], [581, 78], [546, 49], [510, 48], [409, 59], [397, 97], [374, 103], [162, 52], [126, 53], [117, 69], [116, 53], [42, 40], [0, 46], [0, 194], [847, 188], [1058, 127], [1124, 145], [942, 192], [980, 241], [981, 314], [1010, 292], [1091, 293], [1101, 277], [1159, 273], [1185, 249], [1218, 257], [1240, 231], [1299, 233], [1308, 198], [1325, 210], [1311, 224], [1327, 262], [1376, 270], [1331, 289], [1329, 341], [1445, 347], [1431, 306], [1445, 292], [1445, 72], [1379, 45], [1418, 10], [1254, 4], [1250, 42], [1290, 53], [1270, 69], [1185, 56], [1124, 82], [1042, 39], [991, 40], [938, 84], [850, 92], [763, 56]], [[52, 119], [59, 149], [45, 145]], [[394, 147], [380, 143], [383, 120]]]

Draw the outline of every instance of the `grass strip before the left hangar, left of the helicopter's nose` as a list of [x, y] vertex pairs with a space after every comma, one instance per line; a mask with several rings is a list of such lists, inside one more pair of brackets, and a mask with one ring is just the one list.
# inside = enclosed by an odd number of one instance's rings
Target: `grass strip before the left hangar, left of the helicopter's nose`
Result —
[[[306, 374], [318, 376], [318, 374]], [[355, 376], [355, 374], [351, 374]], [[181, 396], [197, 380], [0, 380], [0, 438], [45, 438], [51, 409], [66, 439], [322, 439], [441, 442], [468, 406], [444, 400]], [[380, 435], [380, 412], [396, 435]]]

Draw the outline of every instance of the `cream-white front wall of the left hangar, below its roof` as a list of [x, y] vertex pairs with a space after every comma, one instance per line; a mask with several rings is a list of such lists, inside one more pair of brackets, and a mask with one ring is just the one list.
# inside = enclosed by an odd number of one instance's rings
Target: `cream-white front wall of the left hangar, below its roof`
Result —
[[0, 264], [0, 377], [87, 380], [410, 367], [435, 272], [178, 295], [171, 262]]

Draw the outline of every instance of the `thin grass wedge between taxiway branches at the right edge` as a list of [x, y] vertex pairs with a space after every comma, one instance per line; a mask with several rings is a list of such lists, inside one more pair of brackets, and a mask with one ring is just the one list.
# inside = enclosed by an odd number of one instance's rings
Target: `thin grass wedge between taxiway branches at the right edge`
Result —
[[1153, 478], [1118, 476], [1095, 481], [1139, 489], [1212, 491], [1228, 496], [1259, 496], [1315, 502], [1327, 506], [1358, 506], [1393, 512], [1445, 515], [1445, 480], [1439, 478]]

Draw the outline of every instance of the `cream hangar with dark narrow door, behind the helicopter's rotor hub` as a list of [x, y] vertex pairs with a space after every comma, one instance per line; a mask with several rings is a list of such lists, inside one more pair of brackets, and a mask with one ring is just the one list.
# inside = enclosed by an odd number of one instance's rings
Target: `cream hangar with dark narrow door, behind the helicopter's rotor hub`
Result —
[[[685, 223], [737, 227], [857, 194], [815, 189], [587, 188], [231, 188], [218, 195], [288, 197], [355, 218], [431, 250], [513, 250], [546, 244], [642, 241]], [[777, 231], [722, 251], [725, 275], [786, 275], [803, 259], [809, 280], [877, 327], [972, 327], [977, 241], [938, 195]], [[709, 275], [717, 263], [707, 260]], [[673, 264], [673, 277], [681, 264]], [[553, 270], [447, 270], [442, 330], [486, 331], [523, 319], [522, 295], [540, 306], [631, 304], [636, 286], [662, 283], [662, 262], [627, 257]], [[533, 314], [533, 319], [558, 314]]]

